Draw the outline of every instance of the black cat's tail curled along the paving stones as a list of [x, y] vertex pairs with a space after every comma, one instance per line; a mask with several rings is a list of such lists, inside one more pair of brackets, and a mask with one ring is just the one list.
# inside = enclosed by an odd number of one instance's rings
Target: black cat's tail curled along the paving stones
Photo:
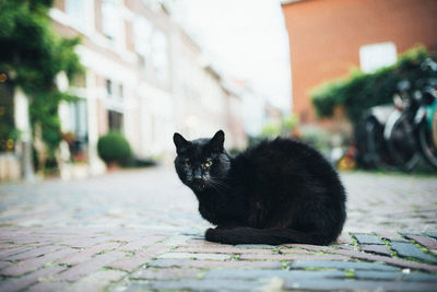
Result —
[[223, 244], [316, 244], [328, 245], [336, 240], [338, 234], [320, 232], [304, 233], [290, 229], [209, 229], [205, 238], [210, 242]]

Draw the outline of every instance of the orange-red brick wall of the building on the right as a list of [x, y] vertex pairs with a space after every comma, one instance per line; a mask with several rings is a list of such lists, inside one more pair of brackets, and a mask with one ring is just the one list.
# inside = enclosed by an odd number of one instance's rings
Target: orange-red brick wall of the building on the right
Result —
[[392, 42], [398, 54], [417, 44], [437, 50], [437, 0], [304, 0], [283, 4], [293, 82], [293, 112], [315, 120], [309, 91], [359, 66], [359, 47]]

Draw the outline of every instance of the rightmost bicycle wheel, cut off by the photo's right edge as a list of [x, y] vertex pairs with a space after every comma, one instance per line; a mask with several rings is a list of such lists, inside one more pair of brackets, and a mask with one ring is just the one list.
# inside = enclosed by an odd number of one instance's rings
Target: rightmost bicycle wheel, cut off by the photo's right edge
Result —
[[437, 170], [437, 108], [434, 108], [430, 125], [424, 120], [417, 129], [417, 140], [425, 160]]

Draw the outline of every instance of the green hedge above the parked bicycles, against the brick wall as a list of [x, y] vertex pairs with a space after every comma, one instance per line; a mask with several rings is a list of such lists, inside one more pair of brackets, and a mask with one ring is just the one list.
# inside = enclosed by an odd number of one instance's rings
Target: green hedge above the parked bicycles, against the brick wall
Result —
[[335, 106], [344, 106], [350, 120], [359, 124], [369, 107], [392, 103], [399, 81], [406, 79], [414, 84], [417, 79], [430, 77], [433, 72], [421, 70], [427, 57], [425, 47], [415, 47], [399, 56], [397, 63], [374, 73], [354, 69], [346, 78], [319, 85], [310, 94], [318, 116], [330, 117]]

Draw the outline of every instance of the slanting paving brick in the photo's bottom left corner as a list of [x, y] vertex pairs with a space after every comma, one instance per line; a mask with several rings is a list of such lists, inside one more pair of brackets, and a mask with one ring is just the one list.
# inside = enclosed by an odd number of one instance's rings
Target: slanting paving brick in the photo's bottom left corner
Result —
[[67, 269], [67, 268], [59, 267], [59, 266], [52, 266], [52, 267], [39, 269], [37, 271], [31, 272], [31, 273], [25, 275], [20, 278], [11, 278], [11, 279], [4, 280], [4, 281], [0, 282], [0, 291], [8, 291], [8, 292], [21, 291], [21, 290], [25, 289], [26, 287], [37, 283], [40, 278], [50, 277], [52, 275], [63, 271], [64, 269]]

